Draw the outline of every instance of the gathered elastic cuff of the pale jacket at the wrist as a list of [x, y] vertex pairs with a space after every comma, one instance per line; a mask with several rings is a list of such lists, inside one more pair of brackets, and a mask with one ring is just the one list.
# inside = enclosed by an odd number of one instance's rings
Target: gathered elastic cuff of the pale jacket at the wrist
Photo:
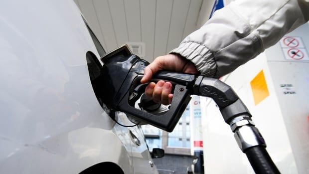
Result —
[[213, 77], [216, 74], [217, 65], [214, 56], [204, 45], [184, 41], [169, 53], [177, 53], [190, 60], [202, 76]]

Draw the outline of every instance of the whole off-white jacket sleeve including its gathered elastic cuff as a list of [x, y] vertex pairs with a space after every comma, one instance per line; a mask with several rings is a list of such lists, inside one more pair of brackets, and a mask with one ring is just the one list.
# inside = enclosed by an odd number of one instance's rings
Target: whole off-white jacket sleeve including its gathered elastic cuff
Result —
[[170, 53], [219, 78], [277, 43], [309, 19], [309, 0], [236, 0], [217, 10]]

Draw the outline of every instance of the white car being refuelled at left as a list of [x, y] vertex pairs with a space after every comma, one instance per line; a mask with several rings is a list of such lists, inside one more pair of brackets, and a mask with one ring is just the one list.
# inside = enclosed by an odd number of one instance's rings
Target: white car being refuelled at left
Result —
[[157, 174], [140, 126], [95, 96], [103, 54], [73, 0], [0, 2], [0, 174]]

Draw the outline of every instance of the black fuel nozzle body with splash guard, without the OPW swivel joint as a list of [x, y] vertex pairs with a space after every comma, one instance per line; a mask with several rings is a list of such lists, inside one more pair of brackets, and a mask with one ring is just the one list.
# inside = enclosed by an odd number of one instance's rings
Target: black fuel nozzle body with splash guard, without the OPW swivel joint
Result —
[[126, 113], [136, 120], [151, 124], [157, 128], [172, 132], [183, 114], [191, 97], [195, 75], [161, 71], [152, 81], [170, 81], [173, 84], [173, 100], [169, 110], [162, 115], [154, 115], [135, 108], [135, 102], [145, 92], [148, 84], [141, 84], [144, 69], [149, 62], [131, 54], [124, 45], [102, 57], [104, 63], [101, 78], [107, 85], [102, 85], [103, 102], [116, 111]]

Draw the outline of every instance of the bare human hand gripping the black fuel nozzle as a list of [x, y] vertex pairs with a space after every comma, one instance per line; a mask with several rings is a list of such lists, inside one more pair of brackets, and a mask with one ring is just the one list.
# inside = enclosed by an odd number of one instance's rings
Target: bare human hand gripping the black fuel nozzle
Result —
[[[159, 70], [169, 70], [190, 74], [199, 73], [195, 65], [184, 57], [181, 57], [178, 54], [167, 54], [155, 58], [154, 61], [145, 68], [144, 77], [141, 79], [141, 83], [147, 83], [150, 81], [152, 76]], [[146, 87], [145, 94], [152, 98], [156, 103], [169, 105], [173, 98], [171, 90], [172, 84], [170, 82], [159, 80], [156, 84], [151, 82]]]

